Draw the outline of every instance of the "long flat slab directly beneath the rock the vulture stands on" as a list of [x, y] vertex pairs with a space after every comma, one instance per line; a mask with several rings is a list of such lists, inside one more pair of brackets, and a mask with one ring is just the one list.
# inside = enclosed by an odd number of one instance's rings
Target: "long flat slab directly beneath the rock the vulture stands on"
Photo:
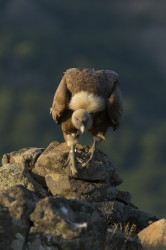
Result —
[[131, 196], [115, 187], [102, 182], [84, 181], [62, 174], [46, 175], [46, 184], [53, 195], [65, 198], [106, 201], [121, 199], [129, 203]]

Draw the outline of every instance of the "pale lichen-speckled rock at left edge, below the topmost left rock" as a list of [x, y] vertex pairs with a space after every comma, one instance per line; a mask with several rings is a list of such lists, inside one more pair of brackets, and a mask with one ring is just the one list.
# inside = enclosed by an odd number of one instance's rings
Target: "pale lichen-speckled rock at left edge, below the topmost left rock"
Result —
[[23, 185], [41, 196], [47, 195], [46, 190], [32, 178], [28, 166], [24, 163], [8, 163], [0, 168], [0, 190], [5, 190], [14, 185]]

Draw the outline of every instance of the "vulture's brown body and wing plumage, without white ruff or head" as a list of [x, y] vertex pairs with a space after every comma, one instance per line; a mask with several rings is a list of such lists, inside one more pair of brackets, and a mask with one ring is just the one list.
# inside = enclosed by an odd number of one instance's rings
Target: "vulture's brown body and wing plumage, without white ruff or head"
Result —
[[[89, 131], [93, 136], [104, 139], [109, 126], [116, 129], [121, 122], [123, 108], [122, 97], [118, 82], [118, 75], [110, 70], [93, 71], [89, 69], [68, 69], [56, 90], [52, 117], [61, 124], [65, 140], [70, 146], [70, 140], [78, 137], [78, 129], [73, 125], [71, 116], [73, 111], [69, 108], [71, 98], [81, 91], [99, 96], [105, 100], [106, 107], [100, 112], [91, 112], [93, 123]], [[71, 142], [73, 143], [73, 142]]]

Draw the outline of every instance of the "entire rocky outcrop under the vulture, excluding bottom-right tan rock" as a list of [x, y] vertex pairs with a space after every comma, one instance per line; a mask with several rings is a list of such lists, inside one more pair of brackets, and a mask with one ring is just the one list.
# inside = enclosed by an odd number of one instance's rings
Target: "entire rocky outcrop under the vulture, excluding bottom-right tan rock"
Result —
[[0, 249], [141, 249], [137, 233], [157, 218], [117, 189], [122, 179], [101, 151], [87, 164], [89, 147], [78, 145], [74, 174], [63, 168], [68, 152], [52, 142], [3, 156]]

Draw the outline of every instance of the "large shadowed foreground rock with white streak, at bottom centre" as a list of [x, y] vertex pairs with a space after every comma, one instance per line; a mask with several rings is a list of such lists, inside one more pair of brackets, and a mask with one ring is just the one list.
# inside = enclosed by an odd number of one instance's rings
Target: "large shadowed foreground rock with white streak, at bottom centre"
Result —
[[[30, 219], [33, 223], [31, 238], [40, 232], [51, 235], [50, 240], [60, 244], [61, 249], [65, 249], [64, 246], [71, 250], [104, 249], [106, 224], [86, 201], [45, 198], [38, 202]], [[41, 240], [39, 242], [41, 244]]]

